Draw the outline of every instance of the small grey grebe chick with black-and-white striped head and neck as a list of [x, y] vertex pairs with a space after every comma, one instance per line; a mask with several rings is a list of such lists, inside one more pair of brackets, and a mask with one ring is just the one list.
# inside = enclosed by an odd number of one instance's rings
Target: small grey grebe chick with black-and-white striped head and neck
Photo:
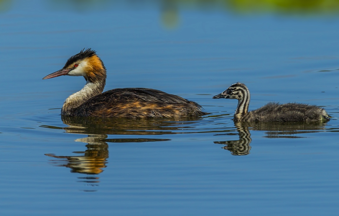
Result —
[[234, 122], [327, 122], [331, 117], [323, 108], [298, 103], [270, 102], [259, 109], [248, 112], [250, 91], [243, 83], [235, 83], [213, 98], [238, 99], [238, 107], [233, 117]]

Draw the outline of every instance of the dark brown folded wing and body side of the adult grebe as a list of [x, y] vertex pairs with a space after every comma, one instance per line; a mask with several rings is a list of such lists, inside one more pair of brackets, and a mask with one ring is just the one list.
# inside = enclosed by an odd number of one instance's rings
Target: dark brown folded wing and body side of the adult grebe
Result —
[[207, 113], [201, 106], [173, 94], [147, 88], [112, 89], [80, 105], [77, 116], [94, 117], [176, 117]]

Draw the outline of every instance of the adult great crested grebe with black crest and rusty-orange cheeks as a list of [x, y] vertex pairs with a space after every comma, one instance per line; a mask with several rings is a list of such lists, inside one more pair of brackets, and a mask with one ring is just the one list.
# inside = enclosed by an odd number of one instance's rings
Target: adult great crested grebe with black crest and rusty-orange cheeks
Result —
[[208, 113], [201, 106], [177, 95], [149, 88], [117, 88], [103, 92], [106, 68], [92, 49], [83, 49], [69, 58], [65, 66], [43, 78], [61, 75], [83, 76], [86, 85], [70, 95], [64, 102], [61, 114], [65, 116], [93, 117], [181, 117]]

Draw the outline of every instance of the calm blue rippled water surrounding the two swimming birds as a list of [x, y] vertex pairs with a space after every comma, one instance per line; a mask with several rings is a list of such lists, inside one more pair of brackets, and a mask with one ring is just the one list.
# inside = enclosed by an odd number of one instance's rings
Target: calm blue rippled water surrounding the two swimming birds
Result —
[[[337, 215], [336, 13], [7, 0], [0, 18], [1, 215]], [[104, 62], [105, 90], [159, 89], [211, 114], [61, 119], [85, 80], [42, 78], [83, 48]], [[235, 125], [237, 101], [212, 96], [236, 82], [250, 109], [310, 103], [333, 118]]]

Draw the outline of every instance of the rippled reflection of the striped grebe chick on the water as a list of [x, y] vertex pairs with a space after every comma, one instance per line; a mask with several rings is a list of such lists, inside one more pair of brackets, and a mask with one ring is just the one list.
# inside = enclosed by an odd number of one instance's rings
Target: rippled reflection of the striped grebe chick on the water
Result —
[[[230, 151], [232, 155], [250, 154], [250, 143], [252, 142], [250, 129], [252, 131], [265, 131], [264, 137], [266, 138], [304, 138], [305, 136], [300, 136], [300, 134], [317, 133], [325, 130], [324, 124], [319, 122], [237, 122], [234, 126], [239, 133], [239, 140], [214, 142], [215, 144], [226, 145], [223, 149]], [[228, 135], [233, 135], [233, 133]]]

